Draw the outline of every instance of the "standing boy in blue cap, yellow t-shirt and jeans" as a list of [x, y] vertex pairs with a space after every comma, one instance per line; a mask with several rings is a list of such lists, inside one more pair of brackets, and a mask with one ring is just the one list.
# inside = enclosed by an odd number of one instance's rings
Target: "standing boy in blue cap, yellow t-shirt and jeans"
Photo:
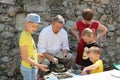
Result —
[[20, 70], [24, 80], [37, 80], [38, 68], [43, 71], [48, 71], [46, 65], [38, 63], [35, 42], [31, 36], [31, 33], [37, 30], [39, 23], [39, 15], [35, 13], [28, 14], [26, 17], [25, 29], [20, 35], [19, 46], [22, 58]]

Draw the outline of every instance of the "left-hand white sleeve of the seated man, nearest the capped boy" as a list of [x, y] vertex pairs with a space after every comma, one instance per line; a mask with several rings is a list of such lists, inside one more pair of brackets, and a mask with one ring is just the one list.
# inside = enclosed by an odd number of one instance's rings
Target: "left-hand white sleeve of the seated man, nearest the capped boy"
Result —
[[44, 31], [42, 31], [39, 34], [38, 44], [37, 44], [37, 50], [39, 54], [46, 52], [46, 46], [47, 46], [46, 37], [47, 36], [45, 35]]

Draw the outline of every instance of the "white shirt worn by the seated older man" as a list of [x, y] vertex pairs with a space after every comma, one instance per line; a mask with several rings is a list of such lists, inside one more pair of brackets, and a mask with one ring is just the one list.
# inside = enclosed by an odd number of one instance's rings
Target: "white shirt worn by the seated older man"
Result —
[[60, 50], [69, 50], [67, 32], [62, 28], [55, 34], [50, 25], [40, 32], [37, 47], [38, 53], [48, 52], [53, 56]]

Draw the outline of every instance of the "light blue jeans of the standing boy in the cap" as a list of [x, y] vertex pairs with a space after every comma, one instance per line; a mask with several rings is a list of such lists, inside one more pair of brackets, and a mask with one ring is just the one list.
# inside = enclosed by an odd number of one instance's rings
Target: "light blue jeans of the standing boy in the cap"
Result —
[[37, 80], [37, 68], [26, 68], [23, 65], [21, 65], [20, 71], [23, 76], [23, 80]]

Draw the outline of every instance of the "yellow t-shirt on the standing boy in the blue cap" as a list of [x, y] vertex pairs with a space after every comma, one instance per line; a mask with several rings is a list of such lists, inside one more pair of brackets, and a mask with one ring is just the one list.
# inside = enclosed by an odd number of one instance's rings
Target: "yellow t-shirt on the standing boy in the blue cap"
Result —
[[[30, 32], [23, 31], [20, 35], [19, 46], [22, 47], [24, 45], [28, 47], [27, 56], [33, 59], [35, 62], [38, 62], [37, 50]], [[31, 65], [23, 59], [21, 64], [27, 68], [31, 68]]]

